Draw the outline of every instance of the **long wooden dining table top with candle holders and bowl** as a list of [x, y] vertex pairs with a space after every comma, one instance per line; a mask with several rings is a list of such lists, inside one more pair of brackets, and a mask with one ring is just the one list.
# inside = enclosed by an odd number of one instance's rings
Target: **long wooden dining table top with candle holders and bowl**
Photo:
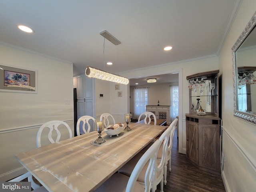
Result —
[[50, 192], [91, 192], [165, 128], [132, 122], [128, 125], [131, 134], [108, 146], [91, 144], [98, 138], [94, 131], [22, 152], [16, 158]]

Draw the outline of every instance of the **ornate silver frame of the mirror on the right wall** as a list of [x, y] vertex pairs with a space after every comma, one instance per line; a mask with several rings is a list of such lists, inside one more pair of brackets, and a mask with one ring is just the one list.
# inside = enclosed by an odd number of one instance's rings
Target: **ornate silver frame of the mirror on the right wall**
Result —
[[244, 31], [242, 34], [239, 36], [238, 40], [232, 47], [232, 63], [233, 63], [233, 87], [234, 87], [234, 116], [237, 118], [240, 118], [246, 122], [249, 122], [251, 124], [256, 125], [256, 114], [255, 113], [250, 113], [250, 112], [241, 112], [237, 110], [237, 77], [238, 77], [238, 72], [237, 72], [237, 66], [236, 66], [236, 51], [244, 42], [248, 34], [252, 31], [254, 26], [256, 25], [256, 12], [244, 28]]

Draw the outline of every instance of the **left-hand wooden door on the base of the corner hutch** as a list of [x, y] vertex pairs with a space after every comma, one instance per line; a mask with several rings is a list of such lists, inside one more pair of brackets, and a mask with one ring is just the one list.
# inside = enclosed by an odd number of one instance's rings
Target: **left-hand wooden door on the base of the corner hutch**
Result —
[[198, 164], [198, 124], [186, 122], [186, 157]]

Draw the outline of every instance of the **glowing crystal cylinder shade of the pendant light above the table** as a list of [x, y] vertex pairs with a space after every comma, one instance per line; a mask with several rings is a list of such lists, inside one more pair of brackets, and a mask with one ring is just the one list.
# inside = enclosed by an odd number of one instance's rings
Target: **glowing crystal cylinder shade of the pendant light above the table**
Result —
[[116, 83], [120, 83], [120, 84], [125, 84], [127, 85], [129, 83], [128, 78], [126, 77], [122, 77], [119, 75], [115, 75], [100, 69], [96, 69], [93, 68], [91, 66], [87, 66], [85, 69], [85, 74], [88, 77], [93, 77], [93, 78], [97, 78], [97, 79], [101, 79], [101, 80], [107, 80], [107, 81], [111, 81], [111, 82], [116, 82]]

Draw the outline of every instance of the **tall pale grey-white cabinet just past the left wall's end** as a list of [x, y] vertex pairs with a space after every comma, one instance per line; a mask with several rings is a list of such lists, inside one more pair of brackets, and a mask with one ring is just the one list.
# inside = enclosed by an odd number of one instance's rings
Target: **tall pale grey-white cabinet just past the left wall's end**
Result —
[[95, 80], [85, 74], [74, 76], [76, 85], [77, 119], [89, 115], [95, 118]]

